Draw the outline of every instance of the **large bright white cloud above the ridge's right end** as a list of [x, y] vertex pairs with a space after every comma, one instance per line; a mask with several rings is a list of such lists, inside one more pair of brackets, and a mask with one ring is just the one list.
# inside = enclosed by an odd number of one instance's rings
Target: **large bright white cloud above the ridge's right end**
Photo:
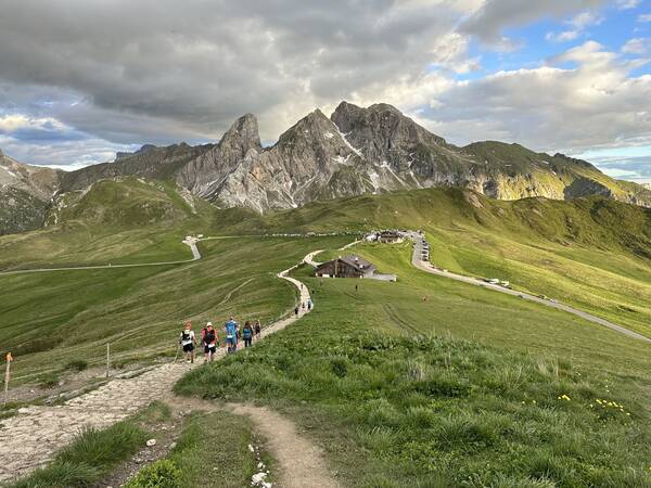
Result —
[[[575, 67], [560, 67], [569, 62]], [[633, 68], [587, 41], [538, 68], [456, 82], [419, 117], [461, 144], [494, 139], [570, 153], [651, 145], [651, 76], [630, 77]]]

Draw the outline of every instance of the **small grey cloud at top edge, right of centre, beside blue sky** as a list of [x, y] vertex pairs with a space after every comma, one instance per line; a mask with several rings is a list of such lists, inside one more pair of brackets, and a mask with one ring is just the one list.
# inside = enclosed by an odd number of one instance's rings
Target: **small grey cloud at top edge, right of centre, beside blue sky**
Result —
[[487, 44], [508, 48], [513, 46], [502, 34], [508, 27], [523, 26], [544, 17], [562, 17], [602, 3], [602, 0], [486, 0], [460, 29]]

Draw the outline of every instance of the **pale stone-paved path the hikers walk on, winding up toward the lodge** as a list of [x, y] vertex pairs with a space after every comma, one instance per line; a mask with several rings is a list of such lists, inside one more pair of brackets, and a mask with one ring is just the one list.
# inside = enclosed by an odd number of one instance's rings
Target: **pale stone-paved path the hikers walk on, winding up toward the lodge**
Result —
[[[288, 277], [296, 268], [278, 273], [301, 292], [301, 301], [307, 301], [308, 287]], [[308, 310], [299, 307], [292, 313], [261, 331], [261, 336], [278, 332], [301, 319]], [[217, 352], [219, 359], [225, 348]], [[199, 364], [201, 360], [195, 363]], [[46, 464], [55, 451], [69, 442], [84, 427], [107, 427], [135, 413], [156, 399], [168, 396], [174, 384], [191, 369], [184, 362], [167, 363], [130, 380], [113, 380], [106, 385], [54, 407], [34, 406], [20, 409], [15, 416], [0, 421], [0, 484], [25, 475]]]

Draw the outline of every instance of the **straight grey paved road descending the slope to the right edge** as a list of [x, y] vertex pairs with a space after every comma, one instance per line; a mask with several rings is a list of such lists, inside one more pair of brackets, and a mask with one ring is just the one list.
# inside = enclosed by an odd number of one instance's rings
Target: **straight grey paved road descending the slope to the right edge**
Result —
[[451, 273], [449, 271], [443, 271], [437, 268], [433, 268], [429, 261], [421, 260], [421, 251], [422, 251], [422, 237], [417, 234], [410, 234], [411, 239], [414, 241], [413, 245], [413, 256], [411, 258], [412, 265], [422, 270], [432, 274], [437, 274], [439, 277], [449, 278], [451, 280], [462, 281], [463, 283], [469, 283], [476, 286], [482, 286], [484, 288], [493, 290], [496, 292], [506, 293], [507, 295], [518, 296], [526, 300], [535, 301], [537, 304], [545, 305], [547, 307], [556, 308], [557, 310], [563, 310], [569, 313], [573, 313], [575, 316], [580, 317], [582, 319], [588, 320], [593, 323], [598, 323], [599, 325], [603, 325], [605, 328], [612, 329], [621, 334], [627, 335], [628, 337], [635, 338], [637, 341], [642, 341], [644, 343], [651, 344], [651, 338], [643, 336], [642, 334], [638, 334], [637, 332], [629, 331], [628, 329], [623, 328], [622, 325], [617, 325], [616, 323], [609, 322], [608, 320], [601, 319], [600, 317], [592, 316], [591, 313], [585, 312], [583, 310], [578, 310], [574, 307], [570, 307], [569, 305], [559, 304], [558, 301], [550, 301], [548, 299], [539, 298], [535, 295], [531, 295], [524, 292], [518, 292], [515, 290], [505, 288], [503, 286], [486, 283], [478, 278], [464, 277], [462, 274]]

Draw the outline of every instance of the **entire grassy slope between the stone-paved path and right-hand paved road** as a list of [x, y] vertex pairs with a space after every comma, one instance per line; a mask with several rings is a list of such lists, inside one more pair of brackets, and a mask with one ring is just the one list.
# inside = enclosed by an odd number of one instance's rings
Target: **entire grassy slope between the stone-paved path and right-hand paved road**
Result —
[[399, 281], [304, 268], [312, 313], [177, 391], [284, 411], [344, 486], [651, 486], [649, 345], [353, 251]]

